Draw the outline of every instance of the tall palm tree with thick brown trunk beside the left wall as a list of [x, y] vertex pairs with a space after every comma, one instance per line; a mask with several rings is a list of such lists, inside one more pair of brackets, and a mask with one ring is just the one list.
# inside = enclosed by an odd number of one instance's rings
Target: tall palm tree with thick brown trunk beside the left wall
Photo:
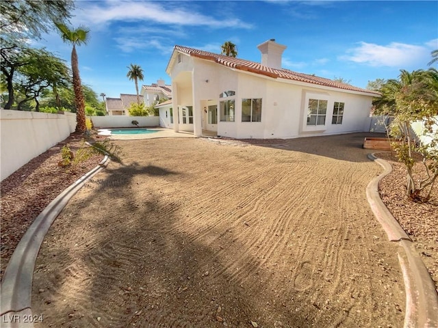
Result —
[[84, 133], [87, 130], [85, 120], [85, 100], [83, 98], [81, 78], [79, 77], [79, 62], [77, 60], [76, 45], [87, 44], [90, 38], [90, 29], [79, 26], [76, 29], [69, 29], [63, 23], [55, 23], [60, 30], [61, 38], [64, 42], [73, 44], [71, 51], [71, 69], [73, 70], [73, 91], [75, 92], [76, 105], [76, 131]]

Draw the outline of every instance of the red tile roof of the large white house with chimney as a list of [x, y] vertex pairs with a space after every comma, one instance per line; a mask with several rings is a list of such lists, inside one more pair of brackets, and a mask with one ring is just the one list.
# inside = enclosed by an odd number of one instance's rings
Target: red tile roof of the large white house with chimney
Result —
[[311, 83], [315, 85], [322, 85], [325, 87], [335, 87], [337, 89], [350, 90], [353, 92], [365, 92], [374, 96], [380, 95], [378, 92], [374, 92], [372, 90], [362, 89], [361, 87], [355, 87], [353, 85], [341, 83], [339, 81], [333, 81], [324, 77], [315, 77], [314, 75], [298, 73], [292, 70], [286, 70], [285, 68], [270, 68], [268, 66], [263, 66], [255, 61], [249, 61], [225, 55], [218, 55], [216, 53], [209, 53], [208, 51], [188, 48], [187, 46], [175, 46], [175, 50], [190, 55], [192, 57], [214, 61], [223, 66], [265, 75], [274, 79], [281, 78], [292, 81]]

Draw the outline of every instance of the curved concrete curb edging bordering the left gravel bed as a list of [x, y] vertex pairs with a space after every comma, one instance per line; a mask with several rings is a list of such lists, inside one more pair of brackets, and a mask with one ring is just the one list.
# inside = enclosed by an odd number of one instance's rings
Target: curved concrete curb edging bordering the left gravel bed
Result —
[[42, 210], [21, 238], [6, 267], [1, 283], [1, 327], [34, 327], [31, 322], [25, 323], [23, 316], [24, 318], [32, 317], [31, 290], [34, 266], [44, 236], [71, 197], [83, 187], [87, 180], [105, 168], [108, 162], [109, 157], [105, 156], [98, 166], [62, 191]]

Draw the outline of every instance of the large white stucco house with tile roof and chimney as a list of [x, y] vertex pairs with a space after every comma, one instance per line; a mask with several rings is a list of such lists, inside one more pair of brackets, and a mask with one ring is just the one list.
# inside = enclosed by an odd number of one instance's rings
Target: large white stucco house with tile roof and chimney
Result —
[[160, 124], [240, 139], [364, 130], [376, 92], [281, 68], [286, 46], [274, 39], [257, 48], [261, 64], [175, 46], [166, 68], [172, 104], [157, 106]]

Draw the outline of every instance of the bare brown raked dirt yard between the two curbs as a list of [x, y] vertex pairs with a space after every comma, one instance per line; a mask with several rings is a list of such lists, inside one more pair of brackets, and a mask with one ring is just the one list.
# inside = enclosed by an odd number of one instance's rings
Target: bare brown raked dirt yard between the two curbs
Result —
[[116, 141], [44, 239], [36, 327], [402, 327], [364, 136]]

